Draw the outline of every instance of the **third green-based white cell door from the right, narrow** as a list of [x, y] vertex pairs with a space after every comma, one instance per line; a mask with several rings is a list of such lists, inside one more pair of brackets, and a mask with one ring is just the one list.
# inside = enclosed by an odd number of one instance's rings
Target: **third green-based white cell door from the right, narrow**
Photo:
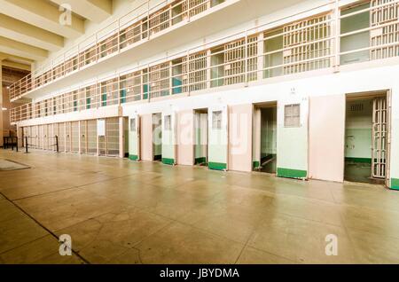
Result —
[[162, 113], [162, 162], [176, 164], [176, 114], [171, 111]]

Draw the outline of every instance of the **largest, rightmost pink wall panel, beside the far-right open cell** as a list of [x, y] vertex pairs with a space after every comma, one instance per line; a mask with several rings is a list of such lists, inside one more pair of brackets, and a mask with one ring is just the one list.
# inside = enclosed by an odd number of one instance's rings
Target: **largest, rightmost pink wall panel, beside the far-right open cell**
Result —
[[309, 177], [342, 182], [345, 95], [310, 98]]

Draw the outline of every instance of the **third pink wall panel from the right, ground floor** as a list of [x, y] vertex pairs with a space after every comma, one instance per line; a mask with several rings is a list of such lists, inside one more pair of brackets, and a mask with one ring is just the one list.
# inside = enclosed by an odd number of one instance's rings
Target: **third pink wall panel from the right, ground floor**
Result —
[[177, 164], [194, 164], [194, 113], [182, 111], [176, 115]]

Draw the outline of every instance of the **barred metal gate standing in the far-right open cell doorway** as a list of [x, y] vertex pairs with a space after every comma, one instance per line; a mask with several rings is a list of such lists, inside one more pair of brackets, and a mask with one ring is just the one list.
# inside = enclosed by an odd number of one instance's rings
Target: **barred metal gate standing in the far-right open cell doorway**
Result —
[[387, 177], [387, 98], [372, 101], [372, 177]]

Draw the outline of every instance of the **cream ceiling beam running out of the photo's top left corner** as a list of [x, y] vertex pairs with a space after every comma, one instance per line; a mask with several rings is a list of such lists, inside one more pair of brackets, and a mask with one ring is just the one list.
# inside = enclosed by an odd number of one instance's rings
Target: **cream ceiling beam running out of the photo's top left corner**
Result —
[[84, 20], [72, 13], [70, 24], [61, 24], [64, 12], [43, 0], [0, 0], [0, 12], [66, 38], [84, 33]]

